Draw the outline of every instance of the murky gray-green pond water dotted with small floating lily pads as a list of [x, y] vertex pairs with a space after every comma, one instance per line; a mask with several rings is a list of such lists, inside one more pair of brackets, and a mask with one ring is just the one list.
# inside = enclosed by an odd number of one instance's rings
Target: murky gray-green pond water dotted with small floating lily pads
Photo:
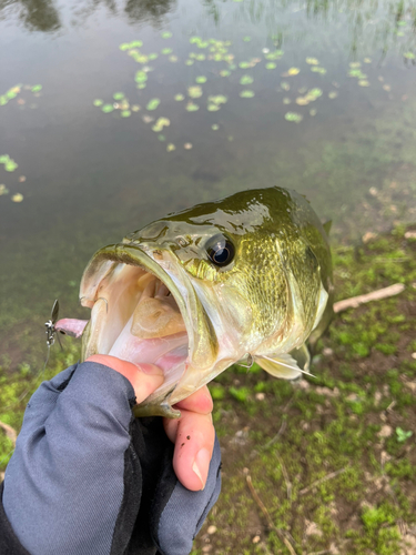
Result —
[[0, 342], [44, 353], [100, 246], [242, 189], [337, 241], [416, 220], [416, 7], [0, 1]]

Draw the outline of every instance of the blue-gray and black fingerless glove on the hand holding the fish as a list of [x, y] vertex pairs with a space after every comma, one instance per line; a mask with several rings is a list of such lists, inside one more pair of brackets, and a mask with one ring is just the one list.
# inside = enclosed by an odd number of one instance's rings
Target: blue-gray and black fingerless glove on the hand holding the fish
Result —
[[220, 493], [219, 444], [205, 488], [189, 492], [173, 473], [161, 418], [134, 418], [133, 404], [130, 382], [91, 362], [34, 393], [2, 494], [31, 555], [190, 553]]

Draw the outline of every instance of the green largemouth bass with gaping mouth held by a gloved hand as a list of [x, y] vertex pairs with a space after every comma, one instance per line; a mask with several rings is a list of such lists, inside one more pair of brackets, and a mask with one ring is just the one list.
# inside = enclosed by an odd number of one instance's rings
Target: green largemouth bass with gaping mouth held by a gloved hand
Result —
[[162, 367], [164, 383], [134, 413], [175, 417], [172, 405], [239, 361], [290, 380], [307, 372], [306, 341], [328, 324], [332, 297], [327, 235], [305, 198], [243, 191], [93, 255], [80, 289], [91, 309], [82, 360], [110, 354]]

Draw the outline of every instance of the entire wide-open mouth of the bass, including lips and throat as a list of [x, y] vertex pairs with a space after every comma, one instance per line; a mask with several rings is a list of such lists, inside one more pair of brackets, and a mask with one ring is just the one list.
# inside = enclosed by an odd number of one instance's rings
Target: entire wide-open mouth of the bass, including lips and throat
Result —
[[194, 289], [180, 273], [168, 250], [119, 243], [95, 253], [81, 282], [81, 304], [91, 309], [82, 360], [109, 354], [160, 366], [164, 383], [144, 402], [154, 406], [152, 414], [160, 406], [160, 414], [168, 411], [173, 416], [171, 404], [186, 392], [170, 397], [195, 359], [195, 347], [204, 343], [204, 334], [194, 332], [201, 324], [212, 332]]

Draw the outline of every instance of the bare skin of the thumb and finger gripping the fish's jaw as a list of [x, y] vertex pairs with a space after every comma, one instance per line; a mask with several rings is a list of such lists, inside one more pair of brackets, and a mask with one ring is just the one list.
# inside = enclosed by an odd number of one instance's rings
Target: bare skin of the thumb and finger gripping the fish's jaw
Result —
[[[87, 362], [109, 366], [132, 384], [138, 403], [144, 401], [163, 383], [163, 371], [154, 364], [133, 364], [115, 356], [95, 354]], [[196, 492], [205, 487], [215, 430], [212, 423], [213, 402], [206, 386], [175, 405], [180, 418], [163, 418], [168, 437], [174, 443], [173, 468], [187, 490]]]

